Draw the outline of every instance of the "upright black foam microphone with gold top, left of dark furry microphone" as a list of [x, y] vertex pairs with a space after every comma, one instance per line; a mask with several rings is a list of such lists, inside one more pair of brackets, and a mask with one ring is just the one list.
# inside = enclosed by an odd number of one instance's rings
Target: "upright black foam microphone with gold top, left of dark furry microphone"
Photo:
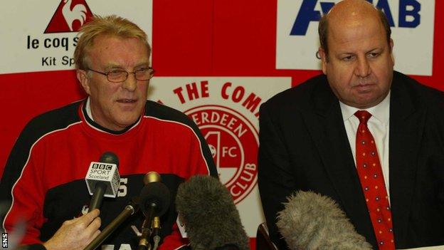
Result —
[[160, 182], [160, 175], [157, 172], [148, 172], [144, 176], [144, 184], [140, 192], [140, 197], [144, 198], [140, 199], [139, 205], [145, 219], [142, 224], [142, 236], [139, 239], [139, 250], [150, 249], [149, 237], [152, 234], [154, 217], [161, 217], [170, 203], [169, 189]]

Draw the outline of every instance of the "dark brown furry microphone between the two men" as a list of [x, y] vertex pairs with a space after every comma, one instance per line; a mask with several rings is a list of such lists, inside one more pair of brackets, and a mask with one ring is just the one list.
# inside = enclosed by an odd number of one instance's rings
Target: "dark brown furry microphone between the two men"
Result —
[[176, 209], [191, 249], [250, 249], [233, 198], [215, 177], [196, 175], [180, 184]]

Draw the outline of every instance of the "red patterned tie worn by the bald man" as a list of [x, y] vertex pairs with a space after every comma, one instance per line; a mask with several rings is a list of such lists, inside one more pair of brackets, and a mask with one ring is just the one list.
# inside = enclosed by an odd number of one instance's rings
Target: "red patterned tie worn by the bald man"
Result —
[[376, 240], [380, 250], [395, 249], [393, 224], [384, 175], [382, 175], [378, 150], [373, 135], [367, 127], [371, 114], [365, 110], [354, 113], [359, 118], [356, 132], [356, 170], [369, 209]]

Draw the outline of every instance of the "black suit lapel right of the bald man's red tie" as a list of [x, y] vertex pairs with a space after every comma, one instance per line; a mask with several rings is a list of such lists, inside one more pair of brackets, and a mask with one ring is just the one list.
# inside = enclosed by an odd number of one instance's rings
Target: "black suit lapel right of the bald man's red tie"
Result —
[[395, 242], [406, 236], [416, 181], [416, 154], [421, 142], [425, 112], [418, 110], [406, 86], [395, 73], [391, 87], [389, 179]]

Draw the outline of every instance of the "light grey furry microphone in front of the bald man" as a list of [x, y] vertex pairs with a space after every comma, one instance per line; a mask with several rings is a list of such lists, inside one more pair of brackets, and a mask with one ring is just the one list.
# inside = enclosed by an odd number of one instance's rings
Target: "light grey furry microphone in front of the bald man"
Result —
[[276, 225], [290, 249], [372, 249], [333, 199], [300, 191], [287, 200]]

